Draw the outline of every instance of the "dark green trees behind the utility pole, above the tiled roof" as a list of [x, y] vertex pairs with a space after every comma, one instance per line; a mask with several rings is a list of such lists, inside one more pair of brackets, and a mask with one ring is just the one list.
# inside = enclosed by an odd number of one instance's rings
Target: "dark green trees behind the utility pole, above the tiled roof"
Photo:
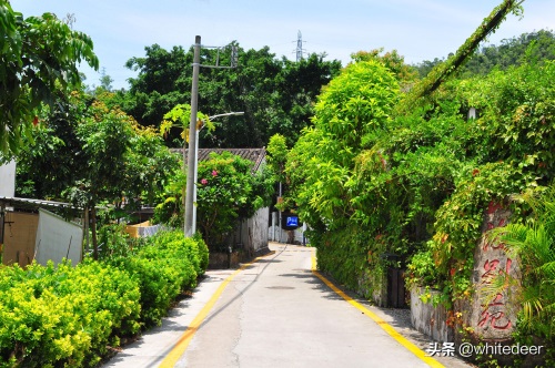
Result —
[[[243, 116], [216, 123], [214, 134], [201, 132], [203, 147], [262, 147], [275, 133], [286, 134], [292, 144], [310, 124], [313, 104], [322, 85], [340, 70], [339, 61], [324, 61], [311, 54], [300, 62], [278, 60], [269, 48], [243, 50], [235, 42], [222, 50], [202, 49], [201, 63], [230, 65], [231, 48], [236, 47], [235, 69], [201, 68], [199, 109], [208, 115], [242, 111]], [[122, 109], [144, 126], [159, 126], [163, 115], [175, 105], [191, 101], [190, 68], [193, 50], [180, 47], [167, 51], [154, 44], [145, 48], [144, 58], [133, 58], [128, 67], [139, 71], [129, 91], [119, 92]], [[168, 140], [182, 146], [181, 130]]]

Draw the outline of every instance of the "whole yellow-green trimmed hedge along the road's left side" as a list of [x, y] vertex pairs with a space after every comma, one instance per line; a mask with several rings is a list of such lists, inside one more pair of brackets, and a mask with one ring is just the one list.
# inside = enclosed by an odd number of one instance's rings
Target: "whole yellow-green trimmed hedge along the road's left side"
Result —
[[208, 265], [202, 241], [165, 232], [129, 257], [0, 268], [0, 367], [93, 367], [159, 324]]

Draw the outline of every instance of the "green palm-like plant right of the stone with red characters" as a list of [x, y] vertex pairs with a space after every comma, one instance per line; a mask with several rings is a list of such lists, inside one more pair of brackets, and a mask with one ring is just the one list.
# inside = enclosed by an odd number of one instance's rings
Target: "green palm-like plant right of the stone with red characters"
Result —
[[[536, 192], [537, 193], [537, 192]], [[505, 292], [522, 306], [521, 328], [535, 336], [555, 337], [555, 185], [543, 194], [517, 196], [535, 216], [525, 224], [493, 229], [488, 237], [505, 244], [507, 255], [518, 259], [519, 275], [501, 274], [482, 292]]]

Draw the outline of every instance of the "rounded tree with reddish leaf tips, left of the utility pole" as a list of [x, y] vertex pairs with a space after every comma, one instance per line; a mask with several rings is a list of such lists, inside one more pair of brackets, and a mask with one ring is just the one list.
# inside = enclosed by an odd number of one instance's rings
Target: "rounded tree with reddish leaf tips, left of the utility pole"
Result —
[[109, 108], [111, 99], [110, 93], [93, 98], [59, 92], [57, 104], [43, 110], [17, 157], [18, 195], [91, 209], [95, 255], [95, 206], [121, 208], [125, 201], [129, 214], [152, 204], [179, 168], [159, 134]]

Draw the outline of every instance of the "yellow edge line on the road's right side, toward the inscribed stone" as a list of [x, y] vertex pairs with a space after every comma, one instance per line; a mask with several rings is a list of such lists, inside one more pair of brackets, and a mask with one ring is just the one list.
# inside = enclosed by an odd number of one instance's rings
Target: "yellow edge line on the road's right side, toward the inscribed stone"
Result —
[[380, 318], [376, 314], [374, 314], [372, 310], [367, 309], [364, 307], [362, 304], [359, 301], [354, 300], [352, 297], [343, 293], [340, 288], [337, 288], [335, 285], [333, 285], [327, 278], [322, 276], [316, 269], [316, 257], [314, 255], [314, 252], [311, 254], [312, 256], [312, 273], [320, 278], [329, 288], [331, 288], [335, 294], [341, 296], [345, 301], [351, 304], [353, 307], [356, 309], [361, 310], [365, 316], [369, 318], [373, 319], [380, 327], [382, 327], [391, 337], [393, 337], [398, 344], [404, 346], [406, 349], [408, 349], [412, 354], [414, 354], [416, 357], [418, 357], [421, 360], [423, 360], [425, 364], [427, 364], [430, 367], [433, 368], [445, 368], [441, 362], [435, 360], [434, 358], [430, 357], [426, 355], [425, 351], [423, 351], [421, 348], [418, 348], [416, 345], [413, 343], [408, 341], [403, 335], [397, 333], [395, 328], [393, 328], [391, 325], [389, 325], [385, 320]]

